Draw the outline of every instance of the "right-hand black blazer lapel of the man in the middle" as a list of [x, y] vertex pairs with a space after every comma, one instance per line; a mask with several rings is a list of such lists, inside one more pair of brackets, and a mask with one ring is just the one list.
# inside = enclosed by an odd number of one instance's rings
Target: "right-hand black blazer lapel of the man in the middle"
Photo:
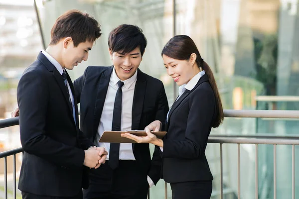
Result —
[[[139, 128], [140, 119], [143, 111], [144, 100], [146, 95], [147, 81], [146, 76], [138, 69], [137, 81], [134, 90], [133, 108], [132, 108], [132, 130]], [[134, 148], [135, 144], [132, 144]]]

